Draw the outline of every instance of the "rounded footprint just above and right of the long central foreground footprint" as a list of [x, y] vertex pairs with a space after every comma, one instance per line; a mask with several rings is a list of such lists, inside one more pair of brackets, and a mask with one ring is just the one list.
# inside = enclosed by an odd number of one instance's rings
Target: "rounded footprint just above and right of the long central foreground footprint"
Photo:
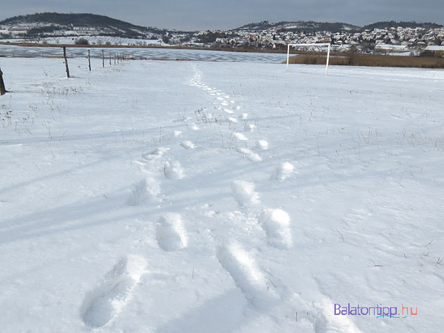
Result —
[[290, 216], [277, 209], [264, 210], [259, 216], [259, 224], [264, 229], [268, 243], [277, 248], [290, 248], [293, 245], [290, 230]]

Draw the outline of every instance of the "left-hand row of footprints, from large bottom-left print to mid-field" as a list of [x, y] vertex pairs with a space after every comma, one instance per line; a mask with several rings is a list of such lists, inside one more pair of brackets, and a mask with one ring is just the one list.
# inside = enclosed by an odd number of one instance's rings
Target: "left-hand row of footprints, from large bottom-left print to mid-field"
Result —
[[[126, 200], [127, 205], [138, 206], [160, 200], [160, 182], [152, 170], [162, 169], [162, 161], [168, 151], [168, 148], [161, 147], [142, 155], [139, 163], [146, 177], [133, 185]], [[176, 160], [164, 162], [163, 172], [168, 180], [180, 180], [185, 176]], [[166, 253], [186, 248], [187, 232], [182, 216], [173, 213], [160, 216], [155, 237], [159, 247]], [[146, 266], [146, 259], [139, 255], [127, 255], [121, 259], [85, 296], [80, 308], [83, 323], [92, 328], [103, 327], [118, 316], [130, 301], [142, 275], [146, 273]]]

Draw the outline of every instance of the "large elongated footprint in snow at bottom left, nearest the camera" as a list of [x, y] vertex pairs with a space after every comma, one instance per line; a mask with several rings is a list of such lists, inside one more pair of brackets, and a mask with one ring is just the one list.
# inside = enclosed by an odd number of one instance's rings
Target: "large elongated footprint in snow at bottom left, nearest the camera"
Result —
[[102, 327], [117, 316], [128, 302], [146, 268], [146, 260], [128, 255], [108, 272], [83, 301], [80, 313], [89, 327]]

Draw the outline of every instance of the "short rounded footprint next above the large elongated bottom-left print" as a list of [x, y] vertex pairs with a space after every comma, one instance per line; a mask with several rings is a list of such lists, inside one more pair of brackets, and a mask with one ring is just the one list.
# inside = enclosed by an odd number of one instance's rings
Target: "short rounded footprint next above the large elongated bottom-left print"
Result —
[[187, 233], [179, 214], [167, 214], [159, 219], [157, 225], [157, 242], [165, 251], [177, 251], [187, 246]]

